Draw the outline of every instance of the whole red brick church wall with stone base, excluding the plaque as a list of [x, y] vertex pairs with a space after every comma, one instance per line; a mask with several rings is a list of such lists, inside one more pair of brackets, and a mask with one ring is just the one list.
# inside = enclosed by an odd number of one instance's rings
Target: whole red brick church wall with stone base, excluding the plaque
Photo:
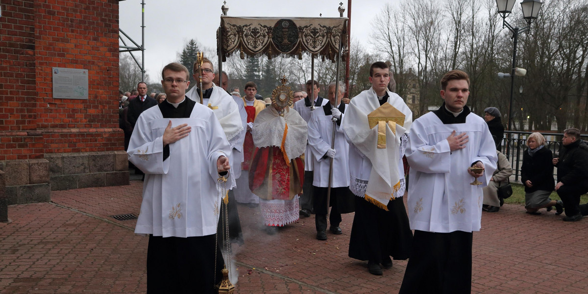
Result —
[[[3, 198], [48, 201], [55, 189], [128, 183], [118, 128], [118, 2], [0, 4], [0, 221]], [[53, 67], [87, 69], [88, 99], [54, 99]]]

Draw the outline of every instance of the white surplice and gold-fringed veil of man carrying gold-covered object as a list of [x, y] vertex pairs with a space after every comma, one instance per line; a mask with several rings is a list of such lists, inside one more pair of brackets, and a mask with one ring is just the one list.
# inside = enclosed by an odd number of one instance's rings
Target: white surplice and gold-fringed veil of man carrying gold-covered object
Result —
[[[386, 206], [390, 198], [405, 192], [402, 156], [406, 133], [412, 123], [412, 111], [396, 93], [387, 92], [387, 103], [405, 115], [403, 126], [396, 133], [386, 124], [386, 148], [377, 148], [377, 126], [370, 129], [368, 115], [380, 107], [373, 88], [359, 93], [349, 102], [341, 126], [349, 142], [349, 190], [356, 196], [366, 195]], [[398, 185], [395, 189], [395, 185]]]

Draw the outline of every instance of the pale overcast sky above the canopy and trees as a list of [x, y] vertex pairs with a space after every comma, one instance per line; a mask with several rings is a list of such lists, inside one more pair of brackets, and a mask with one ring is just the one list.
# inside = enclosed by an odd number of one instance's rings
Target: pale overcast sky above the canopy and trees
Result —
[[[177, 61], [186, 42], [216, 49], [216, 29], [220, 24], [222, 0], [144, 0], [145, 1], [145, 67], [153, 82], [161, 79], [159, 72], [169, 62]], [[229, 16], [267, 17], [339, 17], [337, 8], [343, 2], [333, 0], [229, 0]], [[370, 22], [389, 2], [399, 0], [355, 0], [352, 4], [352, 38], [368, 46]], [[119, 2], [120, 28], [141, 45], [141, 0]], [[344, 16], [347, 16], [347, 10]], [[127, 45], [130, 43], [125, 39]], [[119, 44], [122, 43], [119, 41]], [[134, 52], [140, 61], [140, 52]]]

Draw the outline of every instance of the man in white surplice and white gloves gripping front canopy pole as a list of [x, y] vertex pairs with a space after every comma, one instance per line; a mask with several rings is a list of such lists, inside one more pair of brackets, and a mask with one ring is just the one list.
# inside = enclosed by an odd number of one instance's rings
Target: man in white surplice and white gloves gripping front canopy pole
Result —
[[[313, 206], [315, 211], [316, 239], [326, 240], [327, 193], [329, 188], [330, 163], [333, 161], [332, 183], [330, 185], [329, 206], [332, 206], [329, 231], [335, 235], [343, 233], [339, 224], [341, 213], [353, 212], [355, 196], [349, 192], [349, 143], [340, 128], [347, 104], [341, 103], [345, 84], [332, 82], [328, 86], [329, 102], [316, 108], [308, 122], [308, 156], [314, 165], [312, 183]], [[336, 118], [333, 124], [332, 119]], [[335, 128], [335, 145], [331, 146]]]

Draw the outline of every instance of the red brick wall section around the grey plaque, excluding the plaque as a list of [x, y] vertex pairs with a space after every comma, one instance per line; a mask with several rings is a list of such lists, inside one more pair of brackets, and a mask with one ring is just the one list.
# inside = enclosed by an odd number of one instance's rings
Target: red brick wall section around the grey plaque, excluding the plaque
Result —
[[[123, 149], [118, 129], [118, 1], [36, 1], [36, 126], [45, 153]], [[88, 69], [88, 100], [53, 99], [52, 68]]]

